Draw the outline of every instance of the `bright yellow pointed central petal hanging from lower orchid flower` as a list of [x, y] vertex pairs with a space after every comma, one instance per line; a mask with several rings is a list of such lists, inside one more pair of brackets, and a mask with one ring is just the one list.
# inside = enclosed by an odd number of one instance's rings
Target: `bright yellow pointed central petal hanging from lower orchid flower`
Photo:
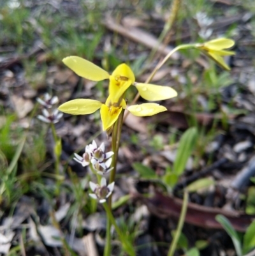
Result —
[[110, 128], [117, 121], [121, 111], [121, 107], [107, 107], [105, 104], [102, 105], [100, 114], [104, 131]]

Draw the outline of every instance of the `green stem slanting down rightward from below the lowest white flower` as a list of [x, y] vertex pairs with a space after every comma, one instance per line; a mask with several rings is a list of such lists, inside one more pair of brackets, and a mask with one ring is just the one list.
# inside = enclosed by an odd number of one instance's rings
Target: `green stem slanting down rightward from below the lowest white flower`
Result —
[[[128, 255], [130, 256], [135, 256], [135, 250], [134, 247], [128, 242], [128, 240], [126, 239], [126, 237], [122, 234], [121, 230], [119, 229], [117, 223], [115, 222], [115, 218], [112, 215], [112, 211], [111, 209], [108, 207], [108, 204], [103, 203], [103, 207], [105, 207], [105, 211], [107, 214], [107, 218], [108, 220], [110, 220], [110, 222], [112, 223], [112, 225], [115, 227], [115, 230], [119, 236], [119, 239], [122, 243], [122, 246], [124, 248], [124, 250], [126, 251], [126, 253], [128, 253]], [[104, 255], [105, 256], [105, 255]]]

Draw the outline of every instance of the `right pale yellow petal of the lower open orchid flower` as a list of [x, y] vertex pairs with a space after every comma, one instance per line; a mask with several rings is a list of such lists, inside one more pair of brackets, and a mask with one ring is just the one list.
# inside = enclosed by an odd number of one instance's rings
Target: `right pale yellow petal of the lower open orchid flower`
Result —
[[134, 116], [153, 116], [167, 109], [156, 103], [143, 103], [140, 105], [132, 105], [127, 109]]

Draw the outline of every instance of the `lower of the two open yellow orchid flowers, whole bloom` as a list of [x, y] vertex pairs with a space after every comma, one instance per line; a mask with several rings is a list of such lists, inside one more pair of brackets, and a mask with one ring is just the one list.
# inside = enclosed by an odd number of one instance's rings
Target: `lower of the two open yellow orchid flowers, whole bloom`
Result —
[[125, 100], [120, 103], [112, 103], [111, 96], [108, 96], [105, 104], [98, 100], [76, 99], [70, 100], [59, 107], [64, 113], [73, 115], [86, 115], [100, 109], [103, 130], [108, 130], [117, 121], [122, 109], [126, 109], [135, 116], [153, 116], [159, 112], [166, 111], [166, 108], [156, 103], [143, 103], [141, 105], [126, 106]]

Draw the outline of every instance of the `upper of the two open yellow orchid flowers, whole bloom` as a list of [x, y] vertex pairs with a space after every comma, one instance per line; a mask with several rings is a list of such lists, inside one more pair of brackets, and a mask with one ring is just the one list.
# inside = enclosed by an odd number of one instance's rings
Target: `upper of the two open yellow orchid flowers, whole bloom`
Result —
[[119, 102], [129, 86], [133, 85], [138, 89], [145, 100], [166, 100], [177, 96], [177, 92], [168, 86], [156, 86], [154, 84], [143, 84], [135, 82], [135, 75], [127, 64], [120, 64], [115, 68], [112, 75], [99, 68], [94, 63], [77, 56], [69, 56], [63, 59], [64, 64], [73, 72], [92, 81], [110, 80], [109, 94], [112, 95], [112, 102]]

